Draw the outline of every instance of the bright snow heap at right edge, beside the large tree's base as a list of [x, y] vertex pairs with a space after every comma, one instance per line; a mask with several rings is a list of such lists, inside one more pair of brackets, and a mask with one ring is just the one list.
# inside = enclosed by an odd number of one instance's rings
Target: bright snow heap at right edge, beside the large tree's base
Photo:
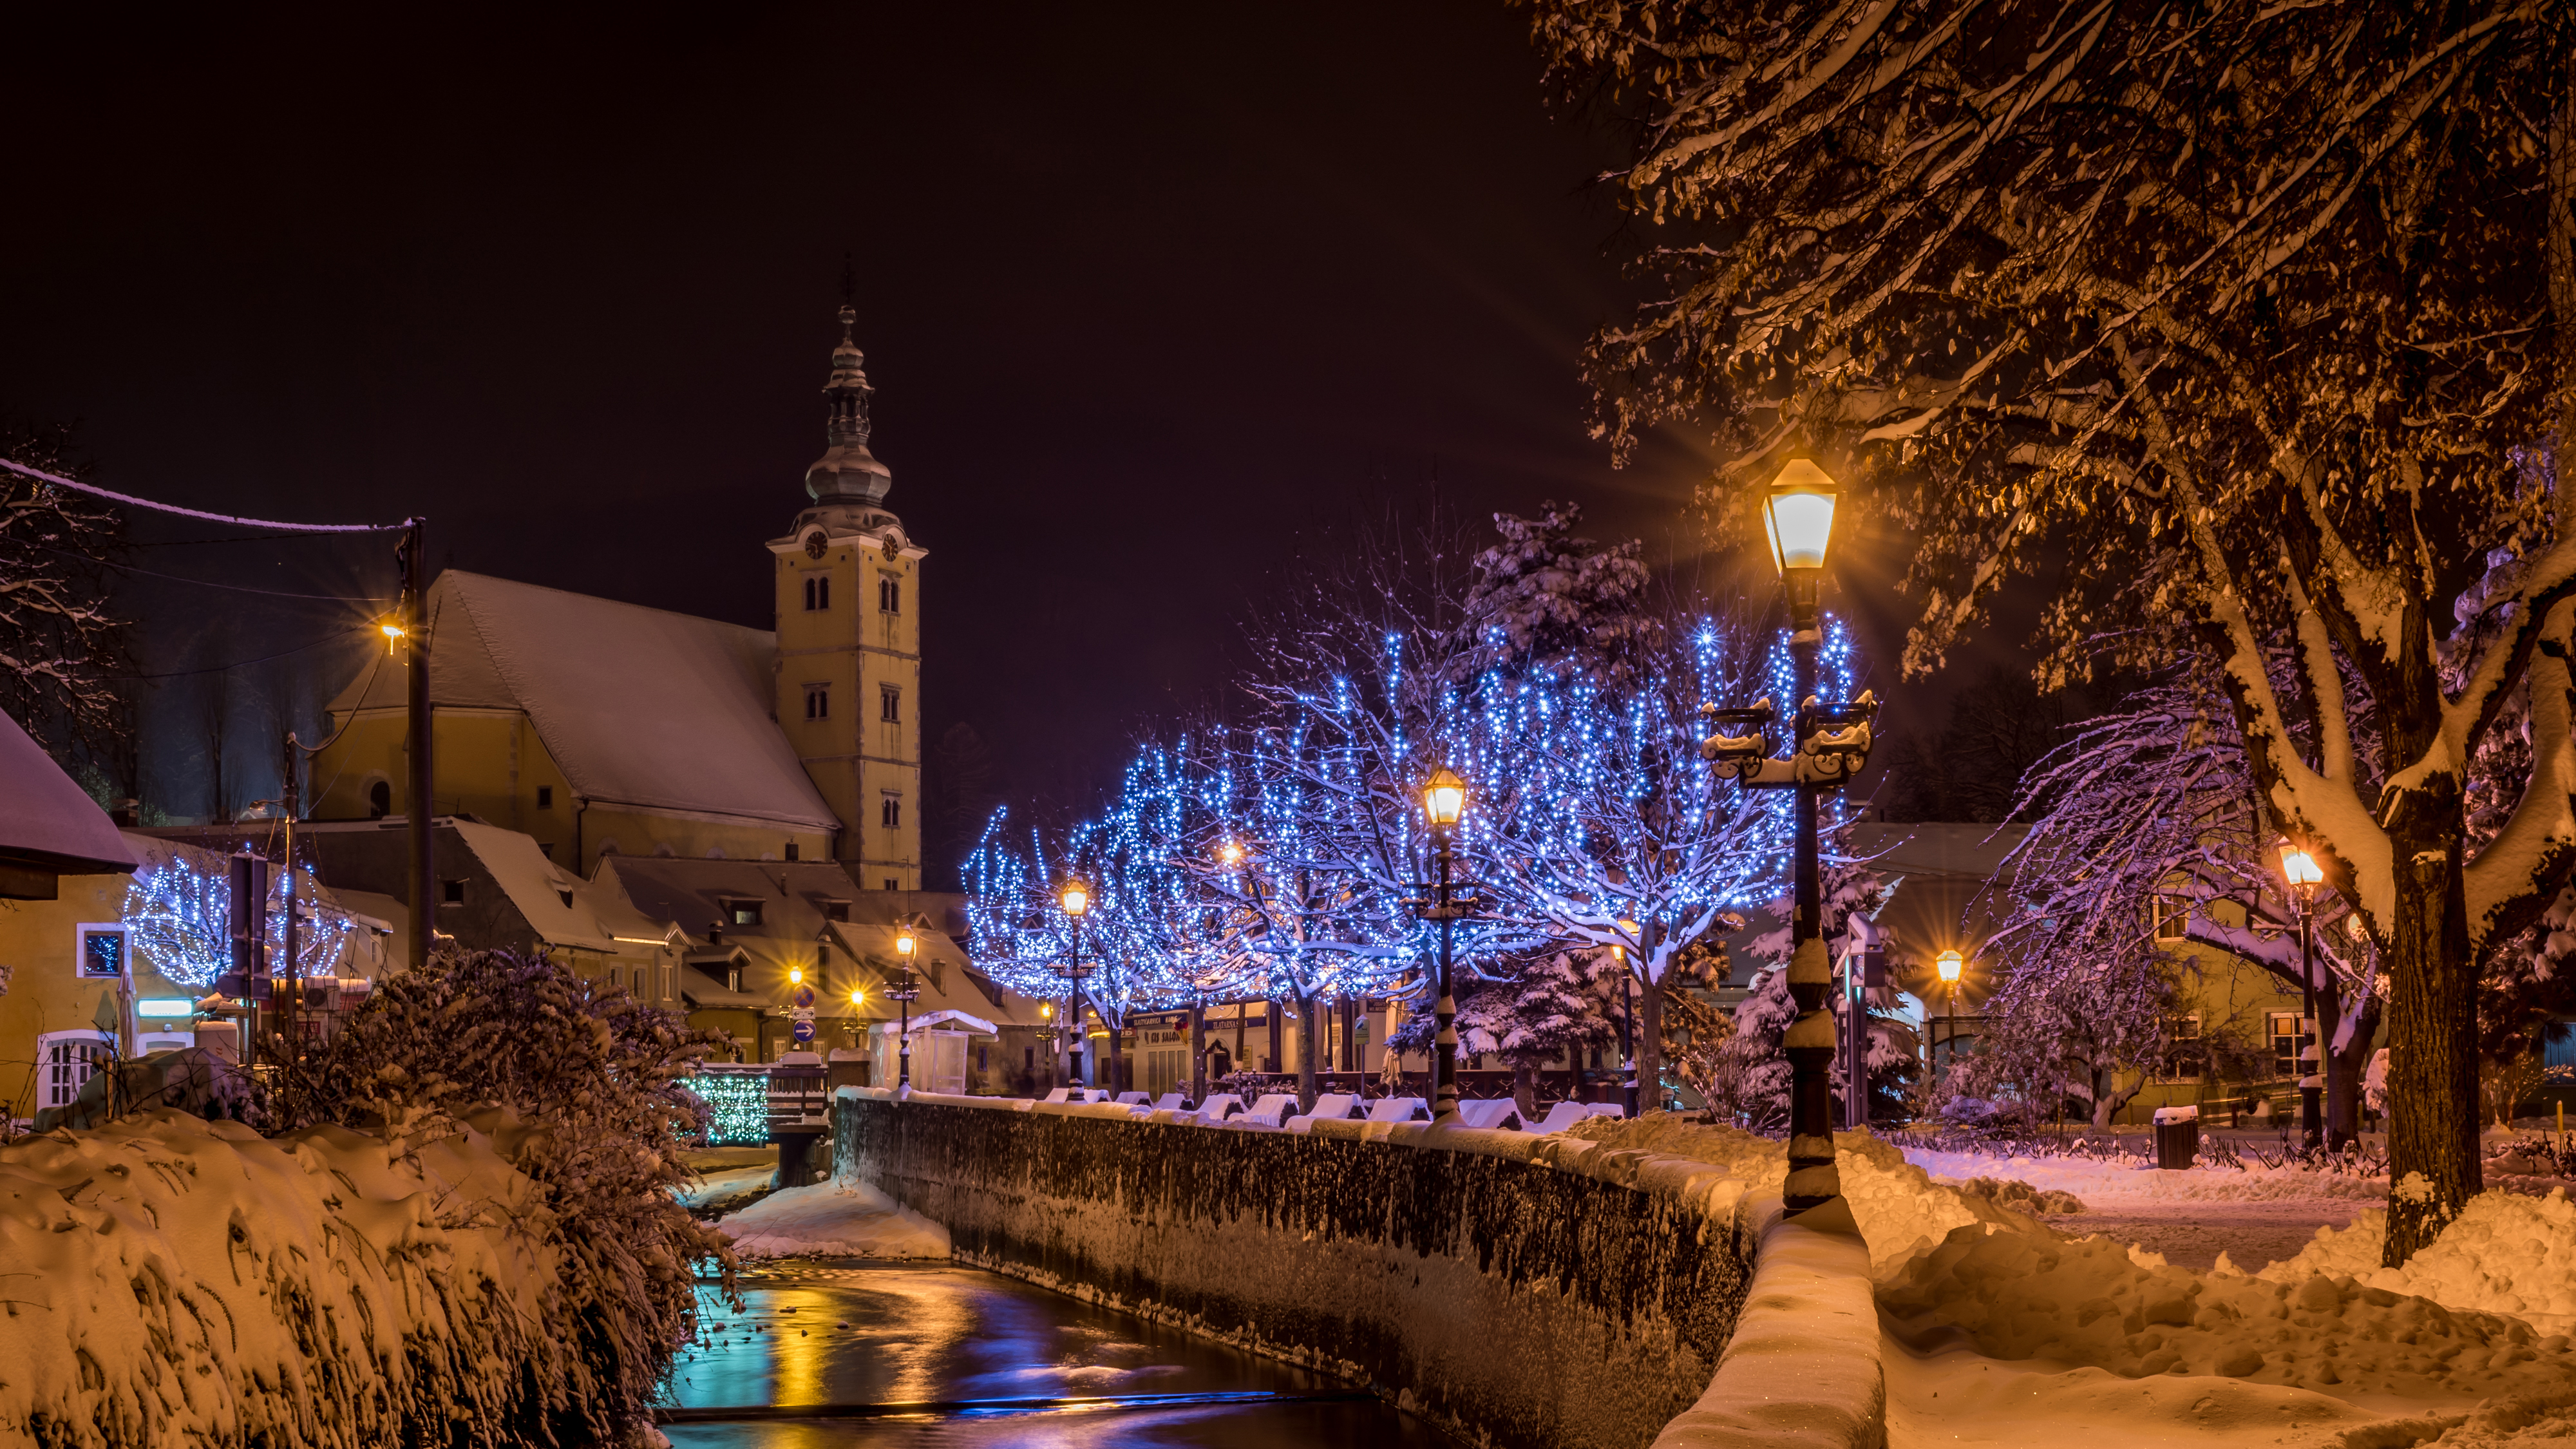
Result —
[[2365, 1209], [2352, 1227], [2318, 1227], [2298, 1258], [2259, 1276], [2295, 1284], [2311, 1274], [2372, 1289], [2429, 1297], [2445, 1307], [2512, 1312], [2543, 1333], [2576, 1333], [2576, 1201], [2483, 1191], [2403, 1269], [2383, 1269], [2388, 1212]]

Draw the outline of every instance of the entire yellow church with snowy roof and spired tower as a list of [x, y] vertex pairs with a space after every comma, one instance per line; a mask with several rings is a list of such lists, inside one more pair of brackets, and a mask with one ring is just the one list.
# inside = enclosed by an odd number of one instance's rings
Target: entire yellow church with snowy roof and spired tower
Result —
[[[744, 629], [446, 570], [425, 598], [435, 815], [528, 833], [590, 877], [600, 856], [845, 861], [920, 890], [920, 565], [868, 454], [868, 379], [832, 351], [811, 505], [770, 541], [775, 629]], [[330, 704], [314, 820], [412, 810], [404, 670]]]

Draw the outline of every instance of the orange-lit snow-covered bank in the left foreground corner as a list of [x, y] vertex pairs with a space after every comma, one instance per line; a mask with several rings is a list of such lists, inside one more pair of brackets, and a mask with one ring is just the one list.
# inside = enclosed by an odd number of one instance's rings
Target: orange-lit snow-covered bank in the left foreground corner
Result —
[[546, 1209], [474, 1129], [152, 1111], [0, 1147], [0, 1441], [510, 1441], [577, 1374]]

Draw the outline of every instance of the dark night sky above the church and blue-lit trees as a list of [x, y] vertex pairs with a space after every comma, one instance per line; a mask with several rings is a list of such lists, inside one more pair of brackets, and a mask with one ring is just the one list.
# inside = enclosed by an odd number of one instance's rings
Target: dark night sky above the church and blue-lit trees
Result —
[[[1005, 789], [1079, 799], [1218, 683], [1298, 547], [1388, 503], [1574, 498], [1698, 549], [1705, 462], [1664, 441], [1613, 472], [1584, 436], [1577, 351], [1631, 248], [1587, 178], [1620, 152], [1548, 113], [1522, 26], [1450, 0], [21, 8], [0, 415], [77, 420], [108, 487], [420, 511], [440, 565], [768, 627], [848, 253], [873, 449], [930, 547], [930, 735], [966, 719]], [[379, 541], [137, 536], [185, 578], [392, 580]], [[366, 611], [121, 598], [149, 673]], [[229, 678], [309, 717], [355, 647]], [[147, 748], [204, 688], [157, 681]]]

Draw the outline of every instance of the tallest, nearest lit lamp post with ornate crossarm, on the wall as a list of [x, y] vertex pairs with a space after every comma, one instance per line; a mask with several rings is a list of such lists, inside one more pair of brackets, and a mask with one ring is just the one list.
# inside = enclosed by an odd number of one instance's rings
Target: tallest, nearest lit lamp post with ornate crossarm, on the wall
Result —
[[1834, 964], [1824, 954], [1816, 792], [1839, 789], [1870, 763], [1870, 722], [1878, 717], [1878, 699], [1868, 691], [1850, 704], [1816, 699], [1816, 650], [1824, 642], [1816, 590], [1824, 583], [1824, 549], [1834, 536], [1837, 492], [1821, 467], [1790, 459], [1762, 505], [1772, 565], [1788, 590], [1788, 652], [1798, 691], [1788, 758], [1770, 758], [1770, 727], [1780, 717], [1770, 699], [1741, 709], [1700, 706], [1716, 727], [1700, 743], [1700, 755], [1716, 761], [1718, 779], [1736, 779], [1744, 789], [1788, 789], [1790, 820], [1798, 828], [1788, 959], [1788, 993], [1798, 1003], [1798, 1018], [1785, 1036], [1790, 1096], [1783, 1196], [1790, 1212], [1806, 1212], [1842, 1194], [1842, 1176], [1834, 1171], [1834, 1013], [1824, 1003], [1834, 985]]

